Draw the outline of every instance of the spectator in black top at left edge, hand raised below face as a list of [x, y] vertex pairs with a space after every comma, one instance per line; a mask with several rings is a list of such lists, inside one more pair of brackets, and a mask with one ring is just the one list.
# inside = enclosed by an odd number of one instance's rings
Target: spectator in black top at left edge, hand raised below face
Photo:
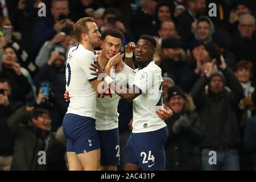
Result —
[[15, 49], [10, 46], [4, 47], [0, 77], [10, 81], [13, 100], [25, 103], [26, 96], [31, 90], [31, 85], [28, 82], [28, 78], [23, 75], [25, 69], [22, 69], [17, 62]]

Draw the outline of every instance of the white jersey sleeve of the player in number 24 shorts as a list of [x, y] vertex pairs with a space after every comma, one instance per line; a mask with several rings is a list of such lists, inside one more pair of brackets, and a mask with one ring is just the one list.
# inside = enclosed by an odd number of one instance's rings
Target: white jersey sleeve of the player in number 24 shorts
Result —
[[146, 93], [148, 88], [159, 81], [159, 74], [161, 75], [161, 71], [158, 69], [146, 68], [135, 76], [134, 85], [141, 89], [142, 93]]

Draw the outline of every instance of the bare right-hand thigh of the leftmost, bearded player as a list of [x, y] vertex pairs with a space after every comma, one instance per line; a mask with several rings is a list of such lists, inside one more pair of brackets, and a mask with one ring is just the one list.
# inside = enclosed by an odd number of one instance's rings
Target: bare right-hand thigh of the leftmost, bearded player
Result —
[[77, 154], [85, 171], [100, 171], [100, 149]]

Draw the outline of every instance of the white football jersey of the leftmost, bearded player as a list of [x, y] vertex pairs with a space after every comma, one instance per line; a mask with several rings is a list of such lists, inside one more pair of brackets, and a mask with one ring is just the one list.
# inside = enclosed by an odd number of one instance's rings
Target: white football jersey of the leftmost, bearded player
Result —
[[69, 92], [70, 102], [67, 113], [77, 114], [95, 119], [96, 92], [90, 81], [97, 76], [90, 75], [90, 64], [96, 61], [92, 51], [81, 44], [72, 47], [68, 52], [66, 65], [66, 90]]

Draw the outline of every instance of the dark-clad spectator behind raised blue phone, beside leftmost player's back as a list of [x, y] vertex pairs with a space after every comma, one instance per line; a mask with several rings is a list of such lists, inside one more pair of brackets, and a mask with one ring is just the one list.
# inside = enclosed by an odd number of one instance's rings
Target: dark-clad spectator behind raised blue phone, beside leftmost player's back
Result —
[[[42, 93], [42, 82], [48, 82], [51, 92], [48, 96]], [[56, 131], [61, 126], [65, 112], [67, 111], [67, 103], [63, 99], [65, 92], [65, 52], [61, 49], [52, 49], [48, 63], [39, 69], [34, 77], [34, 84], [39, 90], [37, 105], [44, 105], [44, 108], [50, 111], [53, 119], [52, 131]], [[47, 102], [44, 102], [47, 101]], [[40, 106], [43, 107], [43, 106]]]

